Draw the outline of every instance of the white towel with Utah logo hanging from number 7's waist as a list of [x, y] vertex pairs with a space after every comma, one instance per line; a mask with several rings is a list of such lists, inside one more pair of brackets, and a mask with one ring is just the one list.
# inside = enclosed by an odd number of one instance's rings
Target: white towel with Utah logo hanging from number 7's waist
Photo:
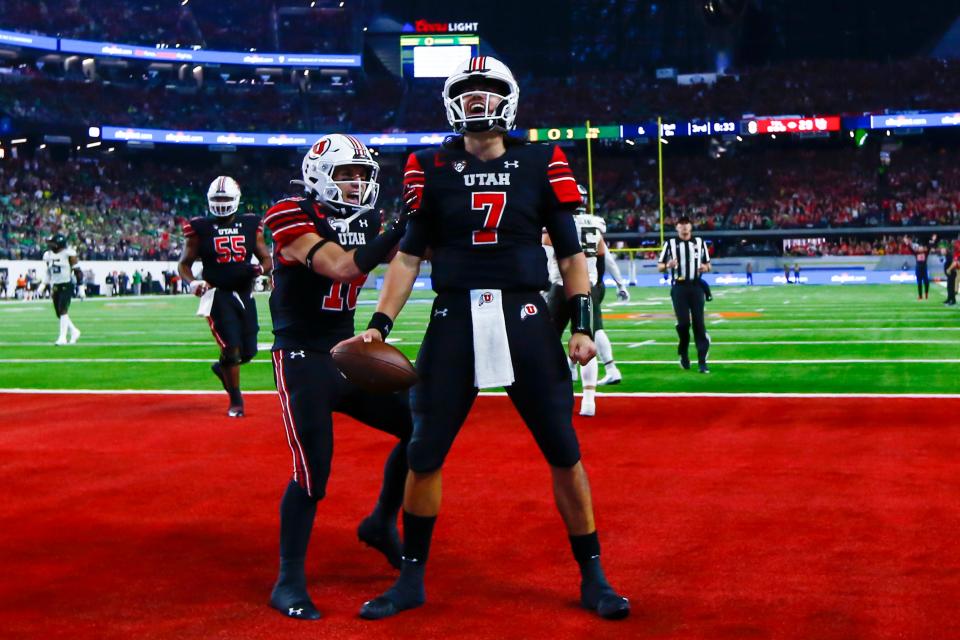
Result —
[[478, 389], [508, 387], [514, 382], [510, 343], [498, 289], [470, 291], [473, 320], [473, 375]]

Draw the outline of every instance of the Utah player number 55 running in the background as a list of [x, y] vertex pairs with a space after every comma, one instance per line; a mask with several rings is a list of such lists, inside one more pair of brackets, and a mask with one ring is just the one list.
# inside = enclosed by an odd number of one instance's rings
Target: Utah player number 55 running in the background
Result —
[[[270, 251], [263, 240], [260, 218], [250, 213], [237, 215], [240, 186], [229, 176], [218, 176], [207, 189], [207, 206], [212, 217], [193, 218], [184, 223], [186, 244], [177, 266], [180, 277], [201, 298], [197, 315], [210, 324], [220, 359], [210, 369], [223, 383], [230, 397], [227, 415], [243, 417], [240, 393], [240, 365], [257, 354], [257, 303], [254, 280], [272, 268]], [[256, 255], [260, 264], [251, 258]], [[203, 262], [202, 279], [193, 278], [193, 263]]]

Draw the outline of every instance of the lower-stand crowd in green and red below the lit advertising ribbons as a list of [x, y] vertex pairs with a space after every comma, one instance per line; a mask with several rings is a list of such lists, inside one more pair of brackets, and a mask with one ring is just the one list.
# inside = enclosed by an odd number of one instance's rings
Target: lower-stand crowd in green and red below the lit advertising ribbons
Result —
[[[245, 160], [251, 160], [243, 156]], [[665, 224], [680, 214], [701, 232], [720, 229], [824, 229], [960, 224], [960, 152], [904, 148], [880, 172], [865, 150], [751, 149], [721, 160], [705, 154], [665, 162]], [[382, 154], [380, 206], [396, 207], [402, 155]], [[216, 172], [237, 178], [246, 210], [262, 212], [290, 193], [298, 163], [206, 165], [161, 162], [149, 156], [80, 156], [65, 163], [48, 152], [0, 162], [0, 257], [37, 258], [43, 238], [63, 229], [88, 259], [171, 259], [179, 226], [205, 209]], [[575, 164], [582, 165], [582, 159]], [[577, 175], [586, 175], [577, 166]], [[136, 176], [131, 180], [130, 176]], [[598, 153], [595, 210], [610, 232], [659, 229], [657, 168], [638, 155]], [[879, 244], [878, 244], [879, 242]], [[841, 255], [891, 253], [883, 241], [829, 249]]]

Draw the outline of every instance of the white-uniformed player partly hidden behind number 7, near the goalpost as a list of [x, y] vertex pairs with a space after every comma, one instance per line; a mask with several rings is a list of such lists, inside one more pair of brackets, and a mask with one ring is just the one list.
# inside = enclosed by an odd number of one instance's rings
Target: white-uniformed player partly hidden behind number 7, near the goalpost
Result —
[[[587, 258], [587, 273], [590, 278], [591, 297], [593, 298], [593, 326], [594, 336], [597, 340], [597, 354], [600, 358], [595, 358], [581, 367], [583, 381], [583, 398], [580, 401], [580, 415], [592, 416], [596, 414], [596, 390], [597, 378], [599, 377], [599, 367], [597, 360], [604, 362], [606, 376], [605, 384], [617, 384], [621, 380], [620, 372], [617, 370], [613, 361], [613, 348], [610, 346], [610, 339], [603, 330], [603, 314], [600, 309], [605, 286], [603, 284], [603, 275], [606, 267], [613, 264], [612, 275], [617, 283], [617, 297], [620, 300], [629, 300], [630, 293], [627, 291], [626, 284], [617, 268], [616, 260], [612, 258], [607, 251], [606, 242], [603, 240], [603, 233], [607, 229], [606, 222], [600, 216], [595, 216], [587, 211], [587, 191], [578, 185], [580, 191], [581, 205], [577, 208], [577, 213], [573, 220], [577, 225], [577, 233], [580, 236], [580, 246], [583, 247], [583, 253]], [[563, 292], [563, 283], [560, 279], [560, 269], [557, 266], [557, 259], [550, 246], [550, 238], [547, 234], [543, 235], [543, 248], [547, 253], [547, 271], [550, 276], [550, 290], [547, 292], [547, 306], [553, 316], [557, 330], [562, 334], [563, 328], [569, 322], [566, 316], [566, 305], [564, 301], [566, 296]], [[605, 351], [601, 350], [601, 341], [605, 346]], [[570, 362], [570, 373], [573, 379], [577, 378], [576, 365]]]

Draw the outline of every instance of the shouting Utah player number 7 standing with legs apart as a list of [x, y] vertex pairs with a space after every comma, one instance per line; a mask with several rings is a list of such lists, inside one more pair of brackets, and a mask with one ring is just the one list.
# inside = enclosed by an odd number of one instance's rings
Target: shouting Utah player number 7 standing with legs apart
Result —
[[[498, 60], [475, 57], [444, 86], [447, 119], [460, 136], [410, 156], [404, 174], [413, 209], [390, 263], [377, 311], [355, 340], [382, 340], [430, 257], [437, 292], [417, 357], [420, 382], [411, 392], [414, 432], [404, 497], [400, 578], [366, 602], [360, 615], [379, 619], [424, 603], [425, 563], [440, 511], [444, 458], [478, 389], [505, 387], [550, 465], [557, 507], [581, 571], [581, 602], [604, 618], [626, 617], [630, 605], [600, 565], [589, 483], [573, 430], [573, 388], [563, 348], [540, 291], [547, 261], [546, 228], [570, 306], [570, 357], [596, 354], [587, 265], [573, 210], [577, 183], [555, 146], [507, 135], [519, 89]], [[504, 544], [516, 543], [505, 534]]]

